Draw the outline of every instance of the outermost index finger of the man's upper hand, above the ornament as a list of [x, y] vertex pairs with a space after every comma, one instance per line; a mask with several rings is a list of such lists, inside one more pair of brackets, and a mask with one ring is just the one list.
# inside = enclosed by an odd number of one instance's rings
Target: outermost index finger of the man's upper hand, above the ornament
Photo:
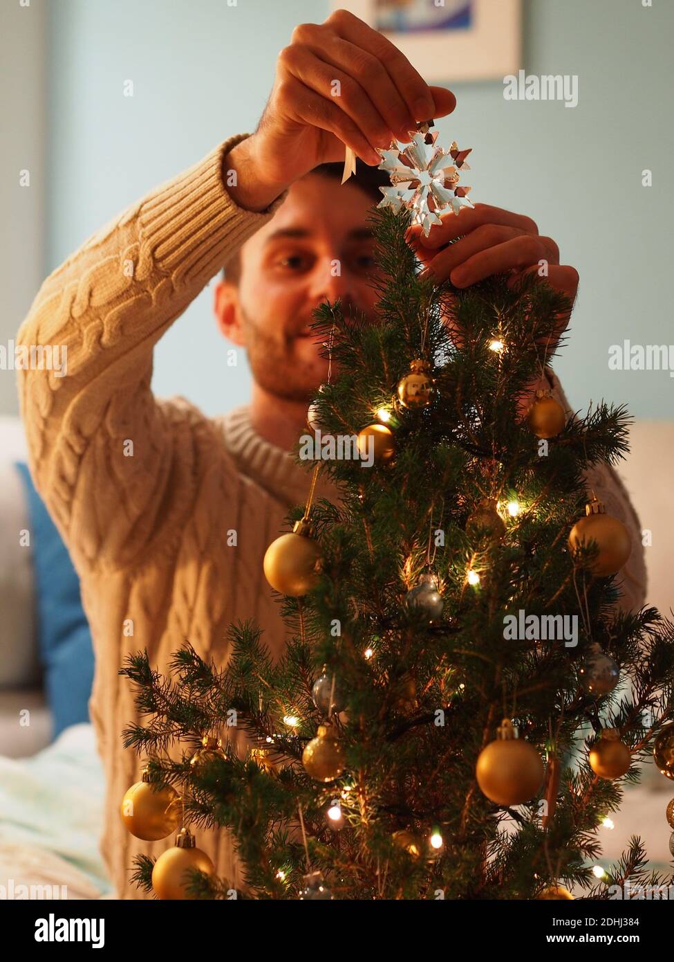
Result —
[[[343, 10], [332, 13], [325, 24], [339, 37], [367, 51], [383, 64], [414, 121], [444, 116], [436, 114], [436, 101], [431, 88], [390, 40], [368, 27], [353, 13]], [[445, 102], [443, 109], [447, 106]], [[451, 110], [447, 113], [451, 113]]]

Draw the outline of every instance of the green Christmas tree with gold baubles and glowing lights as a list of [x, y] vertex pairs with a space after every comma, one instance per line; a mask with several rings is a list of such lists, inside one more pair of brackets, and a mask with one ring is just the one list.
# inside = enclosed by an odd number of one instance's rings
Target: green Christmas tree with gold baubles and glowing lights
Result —
[[200, 859], [205, 826], [236, 839], [239, 898], [663, 884], [637, 837], [600, 881], [591, 871], [654, 742], [674, 776], [672, 625], [616, 604], [629, 536], [587, 491], [588, 468], [625, 455], [629, 417], [602, 403], [567, 420], [540, 392], [524, 417], [570, 303], [533, 275], [435, 285], [410, 211], [373, 216], [379, 322], [337, 303], [313, 325], [337, 373], [310, 409], [308, 467], [338, 503], [314, 503], [308, 469], [308, 502], [264, 561], [285, 656], [246, 621], [224, 668], [186, 644], [169, 676], [144, 653], [122, 671], [143, 720], [124, 743], [148, 760], [135, 790], [163, 812], [180, 798], [151, 837], [184, 825], [156, 865], [140, 857], [137, 884], [231, 897]]

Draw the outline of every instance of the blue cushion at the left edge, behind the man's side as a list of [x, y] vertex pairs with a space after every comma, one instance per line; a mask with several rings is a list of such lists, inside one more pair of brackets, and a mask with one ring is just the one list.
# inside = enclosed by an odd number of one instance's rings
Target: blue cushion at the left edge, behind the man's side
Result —
[[61, 535], [49, 517], [28, 466], [16, 465], [30, 516], [37, 603], [37, 638], [54, 737], [63, 728], [88, 722], [93, 681], [93, 648], [80, 598], [80, 579]]

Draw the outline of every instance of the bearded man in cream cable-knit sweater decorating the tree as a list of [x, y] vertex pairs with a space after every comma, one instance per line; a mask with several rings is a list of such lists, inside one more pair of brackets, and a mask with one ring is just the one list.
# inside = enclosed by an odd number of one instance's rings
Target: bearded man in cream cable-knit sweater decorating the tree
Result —
[[[140, 898], [128, 883], [134, 856], [157, 855], [173, 840], [140, 842], [119, 818], [140, 766], [121, 745], [136, 712], [117, 672], [142, 647], [166, 671], [185, 639], [223, 664], [226, 629], [239, 618], [257, 620], [282, 652], [285, 628], [262, 557], [309, 486], [288, 453], [326, 375], [308, 324], [326, 297], [374, 316], [364, 229], [372, 193], [366, 179], [340, 187], [329, 168], [312, 170], [343, 161], [345, 143], [374, 167], [375, 147], [454, 106], [449, 90], [429, 88], [353, 15], [298, 27], [256, 133], [226, 140], [114, 218], [47, 278], [21, 327], [20, 343], [67, 346], [66, 377], [24, 370], [20, 392], [37, 488], [82, 579], [96, 656], [90, 712], [108, 783], [103, 850], [122, 898]], [[451, 275], [458, 285], [495, 270], [516, 278], [543, 258], [550, 282], [575, 295], [577, 274], [560, 266], [555, 242], [498, 208], [448, 218], [419, 253], [438, 281]], [[182, 399], [152, 396], [152, 350], [224, 265], [215, 313], [248, 350], [253, 393], [250, 405], [211, 419]], [[198, 356], [197, 346], [192, 361]], [[623, 574], [628, 600], [640, 604], [637, 518], [608, 468], [591, 483], [633, 531]], [[318, 494], [331, 491], [323, 484]], [[228, 833], [200, 832], [197, 844], [240, 888]]]

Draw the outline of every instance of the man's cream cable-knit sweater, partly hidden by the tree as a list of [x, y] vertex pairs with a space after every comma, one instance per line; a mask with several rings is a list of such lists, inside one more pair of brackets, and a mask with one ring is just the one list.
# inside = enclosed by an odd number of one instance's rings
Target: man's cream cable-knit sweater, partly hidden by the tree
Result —
[[[220, 144], [89, 238], [45, 280], [17, 335], [29, 346], [67, 345], [66, 377], [24, 370], [19, 390], [37, 490], [82, 580], [96, 658], [89, 707], [107, 778], [102, 848], [124, 899], [143, 898], [128, 883], [134, 856], [173, 844], [137, 840], [119, 816], [140, 771], [120, 739], [137, 717], [130, 686], [117, 674], [125, 656], [146, 647], [166, 671], [188, 639], [222, 664], [228, 625], [247, 618], [258, 621], [273, 652], [285, 645], [262, 557], [287, 508], [306, 500], [309, 474], [254, 432], [246, 407], [206, 418], [184, 399], [150, 392], [155, 343], [283, 202], [254, 214], [227, 194], [222, 158], [245, 136]], [[133, 457], [125, 455], [128, 440]], [[623, 575], [626, 602], [639, 606], [645, 573], [637, 517], [612, 470], [593, 471], [591, 484], [632, 531]], [[334, 490], [319, 481], [317, 494]], [[236, 547], [226, 544], [231, 528]], [[242, 887], [228, 832], [200, 832], [197, 845]]]

